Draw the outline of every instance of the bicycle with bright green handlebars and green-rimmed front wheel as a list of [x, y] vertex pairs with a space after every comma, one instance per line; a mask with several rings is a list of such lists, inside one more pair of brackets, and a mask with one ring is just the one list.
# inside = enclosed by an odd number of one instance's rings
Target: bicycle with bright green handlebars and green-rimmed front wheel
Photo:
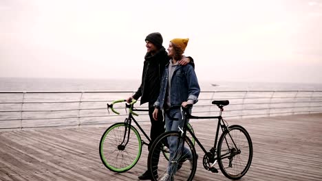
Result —
[[[126, 100], [120, 99], [113, 101], [111, 104], [107, 104], [107, 110], [109, 111], [109, 108], [111, 108], [114, 113], [120, 114], [114, 109], [114, 104], [122, 102], [126, 102]], [[100, 138], [100, 160], [102, 160], [107, 169], [114, 172], [122, 173], [133, 168], [140, 159], [142, 146], [149, 145], [151, 142], [151, 138], [149, 138], [138, 121], [133, 117], [133, 115], [138, 116], [136, 112], [149, 112], [149, 110], [134, 108], [134, 104], [136, 104], [135, 99], [132, 99], [130, 104], [126, 103], [125, 109], [129, 109], [128, 117], [123, 122], [114, 123], [109, 126]], [[133, 123], [135, 123], [138, 129], [134, 127]], [[189, 125], [189, 130], [193, 132], [191, 125]], [[140, 133], [147, 138], [148, 143], [141, 138]], [[167, 145], [164, 145], [162, 154], [164, 158], [169, 159]]]

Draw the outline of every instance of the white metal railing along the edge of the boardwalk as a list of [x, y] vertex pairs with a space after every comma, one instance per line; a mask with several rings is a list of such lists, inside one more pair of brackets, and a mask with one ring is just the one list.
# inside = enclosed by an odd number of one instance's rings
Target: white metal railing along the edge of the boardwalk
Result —
[[[0, 92], [0, 130], [27, 128], [100, 126], [123, 121], [125, 104], [116, 104], [120, 115], [108, 114], [107, 103], [125, 99], [133, 91], [30, 91]], [[228, 99], [224, 117], [270, 117], [322, 112], [322, 90], [202, 91], [193, 108], [198, 116], [216, 115], [214, 99]], [[147, 108], [145, 104], [138, 108]], [[140, 112], [138, 121], [149, 121]]]

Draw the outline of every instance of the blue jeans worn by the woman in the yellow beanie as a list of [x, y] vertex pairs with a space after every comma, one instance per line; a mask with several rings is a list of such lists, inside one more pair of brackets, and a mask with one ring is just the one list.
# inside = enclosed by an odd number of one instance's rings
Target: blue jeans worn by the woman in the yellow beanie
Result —
[[[191, 110], [190, 110], [190, 112], [191, 112]], [[179, 131], [178, 127], [182, 128], [183, 123], [184, 123], [184, 120], [182, 119], [182, 114], [181, 114], [180, 108], [170, 110], [169, 114], [170, 114], [170, 117], [177, 118], [179, 120], [173, 121], [172, 119], [169, 118], [168, 113], [165, 113], [164, 119], [165, 119], [165, 125], [166, 125], [166, 132]], [[186, 124], [188, 124], [188, 123], [189, 123], [189, 119], [186, 121]], [[178, 137], [177, 136], [170, 136], [168, 138], [168, 143], [169, 143], [169, 151], [170, 151], [170, 159], [169, 160], [172, 160], [173, 156], [175, 156], [175, 153], [177, 152], [177, 149], [178, 149]], [[182, 153], [181, 153], [181, 158], [182, 159], [192, 158], [192, 154], [188, 148], [184, 147], [184, 149], [182, 150]], [[178, 161], [178, 160], [176, 160], [176, 161]], [[175, 175], [175, 173], [177, 172], [177, 166], [178, 166], [178, 162], [177, 163], [169, 162], [169, 166], [168, 166], [168, 170], [167, 170], [168, 174]]]

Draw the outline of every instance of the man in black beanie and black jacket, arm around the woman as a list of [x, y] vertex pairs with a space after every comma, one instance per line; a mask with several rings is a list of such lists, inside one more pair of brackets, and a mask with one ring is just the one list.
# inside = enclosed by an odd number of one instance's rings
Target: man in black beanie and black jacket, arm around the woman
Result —
[[[162, 116], [162, 111], [159, 111], [158, 121], [153, 119], [153, 104], [160, 93], [160, 79], [164, 71], [164, 67], [169, 63], [169, 56], [166, 49], [162, 46], [163, 38], [159, 32], [151, 33], [145, 38], [147, 43], [147, 54], [144, 57], [144, 65], [142, 71], [142, 82], [136, 93], [127, 99], [130, 102], [131, 99], [138, 99], [141, 97], [140, 104], [149, 103], [149, 117], [151, 120], [151, 130], [150, 138], [151, 143], [150, 148], [155, 138], [162, 134], [164, 129], [164, 121]], [[191, 62], [193, 64], [192, 58], [183, 58], [180, 60], [180, 64], [188, 64]], [[141, 176], [138, 177], [140, 180], [151, 180], [152, 176], [150, 171], [146, 171]]]

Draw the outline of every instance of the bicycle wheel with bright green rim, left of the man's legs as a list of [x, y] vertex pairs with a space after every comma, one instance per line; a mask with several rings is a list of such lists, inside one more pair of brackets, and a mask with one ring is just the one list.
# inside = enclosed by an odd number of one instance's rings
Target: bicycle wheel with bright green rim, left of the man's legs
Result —
[[141, 152], [141, 136], [127, 123], [111, 125], [100, 138], [100, 160], [111, 171], [128, 171], [136, 165]]

